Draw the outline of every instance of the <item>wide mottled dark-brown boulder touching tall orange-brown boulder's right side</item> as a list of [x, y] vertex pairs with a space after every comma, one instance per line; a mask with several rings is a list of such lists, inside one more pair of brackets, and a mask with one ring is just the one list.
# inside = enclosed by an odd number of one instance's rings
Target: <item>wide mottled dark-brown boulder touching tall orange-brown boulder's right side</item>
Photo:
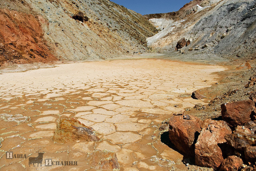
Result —
[[229, 145], [241, 151], [244, 151], [246, 147], [256, 145], [256, 135], [252, 133], [235, 132], [225, 135], [225, 139]]

